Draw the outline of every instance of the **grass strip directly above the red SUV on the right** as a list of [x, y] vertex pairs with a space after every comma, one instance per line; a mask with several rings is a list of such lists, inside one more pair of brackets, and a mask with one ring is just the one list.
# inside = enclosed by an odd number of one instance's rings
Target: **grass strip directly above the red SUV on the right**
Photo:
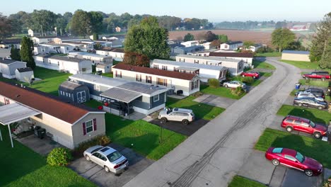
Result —
[[327, 111], [320, 111], [315, 108], [302, 108], [298, 106], [283, 105], [279, 108], [277, 115], [296, 115], [302, 118], [308, 118], [313, 122], [328, 124], [331, 120], [331, 114]]

